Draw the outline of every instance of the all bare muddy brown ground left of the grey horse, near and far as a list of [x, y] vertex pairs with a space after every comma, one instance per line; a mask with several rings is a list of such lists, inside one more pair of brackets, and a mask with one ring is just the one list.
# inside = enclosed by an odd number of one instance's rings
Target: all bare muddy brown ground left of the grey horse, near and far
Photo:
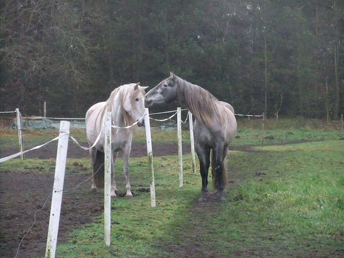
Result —
[[[43, 148], [26, 153], [26, 158], [44, 159], [56, 158], [56, 152], [51, 150], [50, 143]], [[83, 143], [82, 146], [87, 146]], [[191, 151], [190, 144], [183, 143], [183, 154]], [[1, 157], [6, 157], [17, 152], [17, 150], [6, 150]], [[177, 155], [177, 144], [155, 144], [153, 145], [153, 156]], [[68, 147], [67, 157], [87, 158], [88, 151], [84, 151], [71, 144]], [[145, 144], [133, 144], [131, 157], [146, 157], [147, 148]], [[122, 157], [119, 153], [118, 157]], [[82, 165], [74, 164], [78, 169]], [[83, 168], [82, 168], [83, 170]], [[66, 173], [64, 188], [73, 187], [86, 180], [90, 176], [90, 168], [81, 173]], [[49, 172], [40, 171], [40, 168], [28, 168], [24, 172], [13, 171], [0, 172], [0, 257], [15, 257], [22, 237], [31, 227], [34, 221], [34, 213], [40, 209], [47, 200], [54, 182], [54, 168]], [[104, 211], [104, 198], [102, 194], [90, 195], [88, 189], [90, 183], [81, 184], [77, 189], [69, 190], [63, 194], [60, 226], [58, 231], [58, 243], [66, 243], [68, 232], [84, 224], [92, 223], [95, 217]], [[141, 186], [143, 187], [143, 186]], [[135, 195], [144, 189], [133, 188]], [[86, 193], [86, 194], [85, 194]], [[45, 207], [36, 213], [36, 223], [29, 234], [23, 239], [18, 252], [18, 258], [44, 256], [47, 229], [49, 226], [51, 198]], [[67, 216], [68, 214], [68, 216]], [[73, 227], [71, 227], [73, 225]]]

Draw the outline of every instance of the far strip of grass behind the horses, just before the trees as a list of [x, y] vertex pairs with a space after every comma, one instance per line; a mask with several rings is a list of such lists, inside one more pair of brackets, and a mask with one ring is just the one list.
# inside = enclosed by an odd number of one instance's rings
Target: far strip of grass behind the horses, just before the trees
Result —
[[[237, 138], [231, 146], [259, 146], [262, 141], [261, 119], [238, 119]], [[154, 126], [158, 126], [154, 124]], [[190, 143], [188, 124], [183, 124], [182, 139]], [[265, 122], [264, 136], [273, 136], [274, 139], [264, 139], [265, 144], [283, 144], [295, 141], [335, 140], [342, 138], [343, 132], [338, 130], [340, 122], [327, 123], [318, 119], [268, 119]], [[283, 129], [280, 129], [283, 128]], [[23, 131], [24, 149], [43, 144], [58, 135], [58, 130], [25, 130]], [[155, 144], [176, 143], [177, 131], [161, 131], [152, 129], [152, 142]], [[86, 132], [80, 129], [71, 129], [71, 136], [80, 143], [86, 143]], [[145, 131], [141, 128], [133, 135], [133, 144], [146, 143]], [[13, 129], [0, 130], [1, 149], [19, 149], [18, 133]]]

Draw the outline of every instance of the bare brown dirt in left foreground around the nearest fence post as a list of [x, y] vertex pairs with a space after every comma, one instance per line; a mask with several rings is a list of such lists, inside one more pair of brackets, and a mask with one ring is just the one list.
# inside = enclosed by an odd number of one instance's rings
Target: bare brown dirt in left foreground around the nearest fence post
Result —
[[[88, 176], [66, 173], [65, 187], [75, 186], [76, 182]], [[20, 240], [34, 222], [34, 212], [40, 209], [52, 191], [54, 171], [42, 174], [38, 171], [25, 173], [0, 173], [0, 257], [14, 257]], [[103, 211], [101, 195], [88, 194], [89, 184], [63, 194], [58, 243], [65, 243], [71, 225], [80, 226], [95, 221], [95, 216]], [[36, 213], [36, 224], [25, 236], [18, 257], [44, 256], [47, 229], [49, 226], [51, 197], [45, 207]], [[68, 215], [67, 215], [68, 214]], [[74, 227], [73, 227], [74, 228]]]

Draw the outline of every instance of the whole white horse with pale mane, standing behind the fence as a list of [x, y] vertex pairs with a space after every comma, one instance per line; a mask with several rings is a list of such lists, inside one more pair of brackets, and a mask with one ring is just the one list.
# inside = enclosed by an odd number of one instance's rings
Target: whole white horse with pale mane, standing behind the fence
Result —
[[[96, 192], [97, 187], [104, 187], [104, 143], [105, 133], [101, 130], [104, 124], [106, 111], [111, 111], [111, 121], [118, 127], [130, 126], [138, 122], [138, 126], [144, 125], [144, 104], [147, 87], [139, 86], [140, 83], [122, 85], [116, 88], [105, 102], [99, 102], [90, 107], [86, 112], [87, 141], [92, 146], [100, 131], [97, 144], [89, 150], [93, 169], [92, 187], [90, 192]], [[129, 183], [129, 154], [131, 150], [132, 129], [111, 128], [111, 196], [116, 197], [117, 187], [115, 183], [115, 160], [118, 151], [123, 151], [123, 172], [126, 176], [126, 197], [132, 197]]]

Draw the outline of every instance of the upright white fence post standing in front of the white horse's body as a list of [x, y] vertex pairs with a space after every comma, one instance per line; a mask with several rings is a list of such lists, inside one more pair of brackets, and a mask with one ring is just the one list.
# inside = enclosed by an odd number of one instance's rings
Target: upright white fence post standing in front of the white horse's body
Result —
[[105, 121], [105, 176], [104, 176], [104, 240], [110, 246], [111, 226], [111, 112], [106, 112]]

